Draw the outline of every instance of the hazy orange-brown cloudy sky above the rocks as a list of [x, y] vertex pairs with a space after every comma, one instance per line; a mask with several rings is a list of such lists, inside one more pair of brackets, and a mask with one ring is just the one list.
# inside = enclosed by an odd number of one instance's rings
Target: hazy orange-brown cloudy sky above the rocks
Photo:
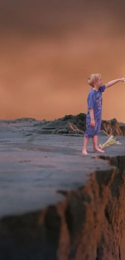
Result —
[[[124, 3], [99, 3], [0, 2], [0, 118], [86, 113], [88, 74], [125, 77]], [[106, 90], [103, 119], [125, 122], [124, 96], [123, 83]]]

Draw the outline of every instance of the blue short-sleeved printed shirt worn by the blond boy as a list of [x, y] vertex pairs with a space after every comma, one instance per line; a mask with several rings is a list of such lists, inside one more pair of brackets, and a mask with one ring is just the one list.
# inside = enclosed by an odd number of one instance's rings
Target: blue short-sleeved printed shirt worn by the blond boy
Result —
[[98, 91], [93, 88], [90, 90], [87, 98], [88, 110], [87, 110], [87, 118], [90, 118], [89, 109], [92, 108], [94, 110], [94, 118], [101, 119], [102, 113], [102, 92], [105, 91], [105, 85], [101, 86]]

